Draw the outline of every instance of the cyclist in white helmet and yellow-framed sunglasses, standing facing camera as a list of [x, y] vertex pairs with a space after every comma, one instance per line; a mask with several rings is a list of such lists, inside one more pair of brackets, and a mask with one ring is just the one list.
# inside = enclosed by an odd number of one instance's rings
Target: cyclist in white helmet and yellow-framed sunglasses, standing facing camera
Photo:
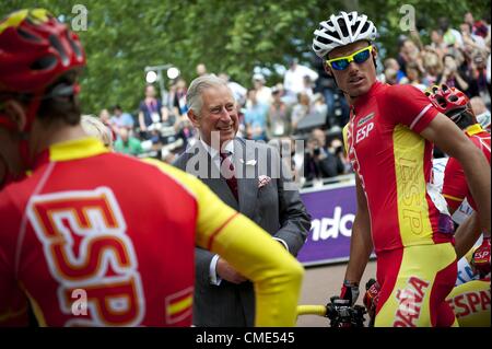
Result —
[[490, 167], [483, 154], [418, 89], [376, 80], [376, 27], [340, 12], [320, 23], [313, 49], [351, 105], [344, 128], [356, 173], [358, 213], [341, 296], [354, 303], [375, 249], [382, 287], [376, 326], [452, 326], [445, 302], [456, 280], [454, 226], [432, 185], [432, 148], [467, 175], [481, 226], [490, 232]]

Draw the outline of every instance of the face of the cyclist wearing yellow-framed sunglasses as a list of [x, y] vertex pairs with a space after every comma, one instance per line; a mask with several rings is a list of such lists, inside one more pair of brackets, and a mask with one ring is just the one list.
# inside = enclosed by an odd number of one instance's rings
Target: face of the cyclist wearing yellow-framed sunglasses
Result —
[[[356, 42], [347, 46], [337, 47], [329, 54], [329, 59], [349, 56], [364, 47], [367, 47], [367, 42]], [[356, 63], [351, 61], [344, 70], [335, 70], [325, 63], [325, 69], [331, 74], [339, 88], [348, 94], [352, 100], [368, 92], [373, 83], [376, 81], [376, 68], [374, 67], [373, 57], [376, 57], [376, 51], [373, 49], [372, 57], [367, 60]]]

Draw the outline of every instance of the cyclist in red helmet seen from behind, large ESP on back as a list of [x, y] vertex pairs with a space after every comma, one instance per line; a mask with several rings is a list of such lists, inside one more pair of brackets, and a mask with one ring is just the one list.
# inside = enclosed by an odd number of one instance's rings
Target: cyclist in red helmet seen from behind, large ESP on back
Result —
[[[194, 251], [255, 282], [256, 325], [293, 326], [303, 270], [201, 182], [109, 152], [80, 125], [85, 56], [46, 10], [0, 22], [0, 326], [190, 326]], [[26, 301], [27, 300], [27, 301]]]

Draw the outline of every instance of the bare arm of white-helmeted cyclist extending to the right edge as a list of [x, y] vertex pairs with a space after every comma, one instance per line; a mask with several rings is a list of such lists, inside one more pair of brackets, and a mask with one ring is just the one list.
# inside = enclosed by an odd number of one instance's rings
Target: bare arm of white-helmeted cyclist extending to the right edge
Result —
[[437, 114], [421, 135], [461, 164], [477, 202], [481, 229], [490, 234], [491, 177], [490, 165], [483, 153], [443, 114]]

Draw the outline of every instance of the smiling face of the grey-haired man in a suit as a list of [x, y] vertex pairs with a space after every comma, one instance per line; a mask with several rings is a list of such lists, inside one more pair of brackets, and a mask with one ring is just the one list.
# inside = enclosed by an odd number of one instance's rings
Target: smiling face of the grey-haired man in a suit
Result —
[[[195, 127], [200, 130], [201, 138], [209, 144], [215, 146], [219, 136], [221, 146], [234, 139], [239, 127], [236, 102], [226, 86], [214, 86], [202, 93], [201, 113], [191, 119]], [[213, 133], [212, 133], [213, 132]]]

